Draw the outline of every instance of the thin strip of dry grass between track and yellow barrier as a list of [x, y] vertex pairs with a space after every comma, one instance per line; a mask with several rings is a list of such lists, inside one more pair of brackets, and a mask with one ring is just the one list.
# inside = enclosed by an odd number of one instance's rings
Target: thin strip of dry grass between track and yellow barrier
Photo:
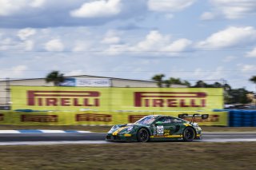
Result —
[[[0, 125], [0, 130], [18, 129], [52, 129], [52, 130], [85, 130], [91, 132], [108, 132], [110, 126], [27, 126], [27, 125]], [[204, 132], [256, 132], [256, 127], [222, 127], [202, 126]]]

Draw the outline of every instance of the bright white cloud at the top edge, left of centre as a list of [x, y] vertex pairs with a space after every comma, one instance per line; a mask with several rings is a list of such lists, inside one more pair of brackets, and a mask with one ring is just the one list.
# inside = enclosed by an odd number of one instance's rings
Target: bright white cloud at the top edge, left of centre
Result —
[[98, 0], [84, 3], [79, 9], [72, 10], [70, 15], [77, 18], [110, 17], [121, 12], [121, 0]]

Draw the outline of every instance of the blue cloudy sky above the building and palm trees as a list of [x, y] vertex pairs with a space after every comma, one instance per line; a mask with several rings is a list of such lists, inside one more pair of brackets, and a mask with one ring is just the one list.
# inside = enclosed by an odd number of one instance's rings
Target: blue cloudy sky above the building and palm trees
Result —
[[255, 16], [255, 0], [0, 0], [0, 78], [164, 73], [255, 90]]

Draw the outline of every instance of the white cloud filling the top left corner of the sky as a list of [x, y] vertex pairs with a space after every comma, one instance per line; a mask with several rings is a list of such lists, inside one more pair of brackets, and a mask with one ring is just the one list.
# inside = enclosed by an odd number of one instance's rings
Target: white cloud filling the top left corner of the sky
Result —
[[0, 16], [10, 16], [27, 8], [38, 8], [45, 0], [0, 0]]

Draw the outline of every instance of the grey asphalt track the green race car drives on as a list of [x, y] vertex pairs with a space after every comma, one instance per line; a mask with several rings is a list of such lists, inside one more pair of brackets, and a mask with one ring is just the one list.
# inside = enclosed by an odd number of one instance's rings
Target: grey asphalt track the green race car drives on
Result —
[[[256, 141], [256, 132], [203, 132], [202, 140], [194, 142]], [[0, 134], [0, 145], [17, 144], [110, 144], [106, 133], [4, 133]]]

